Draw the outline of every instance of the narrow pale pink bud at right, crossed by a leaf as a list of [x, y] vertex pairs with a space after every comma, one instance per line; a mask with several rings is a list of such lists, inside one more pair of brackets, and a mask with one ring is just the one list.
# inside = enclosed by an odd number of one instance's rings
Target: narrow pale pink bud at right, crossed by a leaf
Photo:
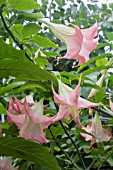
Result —
[[[98, 86], [101, 87], [101, 86], [102, 86], [102, 83], [103, 83], [103, 81], [104, 81], [104, 77], [105, 77], [105, 75], [103, 74], [103, 75], [99, 78], [99, 80], [96, 82], [96, 85], [98, 85]], [[92, 88], [92, 90], [91, 90], [88, 98], [95, 96], [95, 94], [96, 94], [97, 92], [99, 92], [99, 89], [94, 89], [94, 88]]]

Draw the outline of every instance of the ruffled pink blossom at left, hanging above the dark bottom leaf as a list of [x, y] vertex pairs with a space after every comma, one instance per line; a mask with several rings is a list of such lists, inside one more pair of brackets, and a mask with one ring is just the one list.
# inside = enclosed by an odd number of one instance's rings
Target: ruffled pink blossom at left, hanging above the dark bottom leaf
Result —
[[20, 101], [15, 97], [15, 104], [11, 99], [8, 117], [17, 125], [21, 137], [38, 143], [48, 143], [44, 129], [51, 124], [52, 118], [43, 115], [43, 99], [34, 103], [31, 98], [27, 96]]

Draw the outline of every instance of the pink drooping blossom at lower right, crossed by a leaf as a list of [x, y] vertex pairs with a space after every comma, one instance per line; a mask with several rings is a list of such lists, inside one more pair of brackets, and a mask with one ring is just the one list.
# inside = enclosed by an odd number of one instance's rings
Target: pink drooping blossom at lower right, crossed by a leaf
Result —
[[[87, 125], [87, 127], [82, 127], [86, 132], [91, 133], [94, 136], [101, 137], [102, 141], [109, 141], [112, 137], [112, 128], [108, 126], [102, 126], [99, 115], [96, 113], [95, 117], [92, 118], [92, 122]], [[91, 146], [94, 143], [98, 143], [99, 140], [94, 138], [93, 136], [85, 133], [81, 133], [81, 135], [85, 138], [86, 141], [91, 141]]]

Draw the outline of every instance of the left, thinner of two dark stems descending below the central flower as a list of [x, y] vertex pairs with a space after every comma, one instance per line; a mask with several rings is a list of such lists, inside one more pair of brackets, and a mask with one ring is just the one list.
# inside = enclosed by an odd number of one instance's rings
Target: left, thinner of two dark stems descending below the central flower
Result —
[[73, 164], [73, 166], [79, 170], [79, 167], [76, 165], [76, 163], [69, 157], [69, 155], [62, 149], [62, 147], [59, 145], [59, 143], [57, 142], [56, 138], [54, 137], [51, 129], [50, 129], [50, 126], [48, 127], [50, 133], [51, 133], [51, 136], [53, 137], [55, 143], [57, 144], [57, 146], [61, 149], [61, 151], [65, 154], [65, 156], [70, 160], [70, 162]]

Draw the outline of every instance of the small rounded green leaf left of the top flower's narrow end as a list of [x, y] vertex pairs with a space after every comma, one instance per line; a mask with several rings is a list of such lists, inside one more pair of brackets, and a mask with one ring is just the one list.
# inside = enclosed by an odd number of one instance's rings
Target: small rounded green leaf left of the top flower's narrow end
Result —
[[29, 23], [22, 30], [23, 37], [29, 37], [36, 34], [40, 30], [40, 26], [35, 23]]

